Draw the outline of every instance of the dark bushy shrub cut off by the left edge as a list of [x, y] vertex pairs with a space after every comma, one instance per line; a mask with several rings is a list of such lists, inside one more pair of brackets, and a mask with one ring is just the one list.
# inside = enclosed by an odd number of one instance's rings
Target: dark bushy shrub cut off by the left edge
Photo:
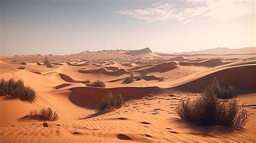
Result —
[[23, 80], [15, 81], [10, 78], [5, 81], [3, 78], [0, 83], [0, 96], [8, 96], [7, 98], [18, 98], [21, 101], [32, 103], [36, 99], [36, 92], [29, 86], [25, 86]]

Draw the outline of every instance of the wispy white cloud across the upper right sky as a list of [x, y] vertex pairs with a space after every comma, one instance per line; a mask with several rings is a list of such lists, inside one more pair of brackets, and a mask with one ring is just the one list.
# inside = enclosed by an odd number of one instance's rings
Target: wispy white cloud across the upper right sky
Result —
[[158, 2], [152, 4], [154, 8], [119, 10], [117, 13], [151, 23], [164, 20], [188, 23], [194, 17], [225, 20], [255, 12], [254, 1], [187, 0], [186, 2], [188, 6], [180, 11], [176, 9], [175, 4]]

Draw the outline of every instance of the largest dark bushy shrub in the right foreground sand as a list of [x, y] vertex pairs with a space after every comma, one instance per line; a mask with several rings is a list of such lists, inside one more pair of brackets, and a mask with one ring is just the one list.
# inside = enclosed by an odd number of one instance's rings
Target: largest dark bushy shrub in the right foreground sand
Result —
[[[206, 87], [210, 88], [210, 87]], [[249, 115], [236, 98], [219, 99], [213, 89], [207, 89], [194, 101], [187, 99], [177, 106], [178, 116], [198, 125], [224, 125], [242, 128], [249, 120]]]

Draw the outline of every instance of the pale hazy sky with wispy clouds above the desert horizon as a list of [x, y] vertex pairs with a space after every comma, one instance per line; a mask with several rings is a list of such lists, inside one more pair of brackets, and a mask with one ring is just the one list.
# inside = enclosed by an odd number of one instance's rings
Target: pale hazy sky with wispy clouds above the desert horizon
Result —
[[0, 55], [255, 47], [255, 1], [0, 0]]

